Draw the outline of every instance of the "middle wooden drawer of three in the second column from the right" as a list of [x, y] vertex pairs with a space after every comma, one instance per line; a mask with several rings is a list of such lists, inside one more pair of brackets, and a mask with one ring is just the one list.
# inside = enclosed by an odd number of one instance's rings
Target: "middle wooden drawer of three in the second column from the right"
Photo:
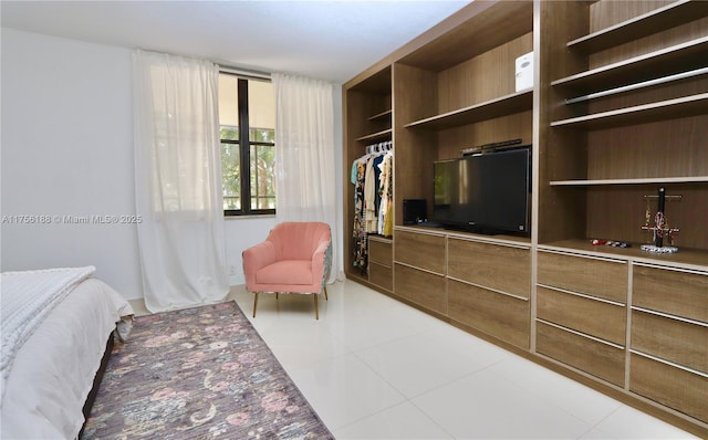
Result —
[[625, 345], [627, 311], [624, 306], [542, 286], [537, 292], [537, 314], [540, 318]]

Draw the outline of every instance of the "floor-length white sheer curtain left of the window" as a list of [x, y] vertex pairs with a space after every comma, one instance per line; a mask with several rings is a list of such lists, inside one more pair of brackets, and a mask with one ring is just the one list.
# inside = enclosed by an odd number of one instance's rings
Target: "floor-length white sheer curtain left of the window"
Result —
[[229, 291], [218, 74], [210, 62], [133, 52], [138, 247], [150, 312], [220, 302]]

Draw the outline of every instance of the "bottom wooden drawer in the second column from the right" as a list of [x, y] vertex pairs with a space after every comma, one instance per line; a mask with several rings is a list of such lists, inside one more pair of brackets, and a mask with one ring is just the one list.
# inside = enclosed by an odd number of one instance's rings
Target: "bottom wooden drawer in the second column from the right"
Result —
[[624, 349], [600, 341], [537, 323], [537, 352], [572, 367], [624, 386]]

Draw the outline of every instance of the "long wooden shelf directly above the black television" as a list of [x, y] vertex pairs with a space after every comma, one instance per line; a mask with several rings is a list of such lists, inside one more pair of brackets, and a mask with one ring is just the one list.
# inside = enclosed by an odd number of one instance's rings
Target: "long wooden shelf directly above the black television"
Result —
[[441, 129], [458, 127], [466, 124], [493, 119], [504, 115], [530, 111], [533, 105], [533, 91], [527, 90], [512, 93], [497, 99], [470, 105], [454, 112], [428, 117], [404, 125], [406, 128]]

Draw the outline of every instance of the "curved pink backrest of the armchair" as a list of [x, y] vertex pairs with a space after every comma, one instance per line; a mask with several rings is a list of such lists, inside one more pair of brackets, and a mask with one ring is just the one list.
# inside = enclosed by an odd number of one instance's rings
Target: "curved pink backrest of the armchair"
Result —
[[310, 260], [320, 243], [332, 240], [327, 223], [287, 221], [278, 223], [268, 235], [277, 260]]

